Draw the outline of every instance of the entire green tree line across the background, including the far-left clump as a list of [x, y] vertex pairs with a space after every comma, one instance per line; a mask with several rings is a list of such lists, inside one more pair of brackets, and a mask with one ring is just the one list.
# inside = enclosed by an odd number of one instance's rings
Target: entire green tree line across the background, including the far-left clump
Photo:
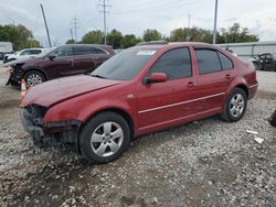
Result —
[[[179, 28], [170, 32], [169, 36], [162, 35], [155, 29], [147, 29], [142, 36], [135, 34], [124, 35], [120, 31], [114, 29], [107, 35], [107, 44], [114, 48], [127, 48], [136, 45], [139, 42], [148, 41], [168, 41], [168, 42], [205, 42], [212, 43], [212, 31], [193, 26]], [[39, 47], [40, 42], [33, 39], [32, 31], [22, 24], [0, 25], [0, 41], [11, 42], [13, 50], [19, 51], [26, 47]], [[229, 29], [221, 29], [216, 35], [216, 43], [240, 43], [240, 42], [257, 42], [258, 36], [250, 34], [247, 28], [242, 28], [241, 24], [234, 23]], [[66, 43], [75, 43], [74, 40], [68, 40]], [[104, 32], [100, 30], [93, 30], [83, 35], [82, 41], [78, 43], [86, 44], [104, 44]]]

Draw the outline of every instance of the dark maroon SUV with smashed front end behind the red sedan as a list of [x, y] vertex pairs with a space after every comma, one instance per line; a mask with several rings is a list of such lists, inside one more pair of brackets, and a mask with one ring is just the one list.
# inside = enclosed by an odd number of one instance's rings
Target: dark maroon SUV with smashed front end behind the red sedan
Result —
[[87, 74], [114, 54], [112, 46], [107, 45], [62, 45], [36, 58], [12, 62], [7, 84], [18, 85], [24, 78], [28, 86], [34, 86], [49, 79]]

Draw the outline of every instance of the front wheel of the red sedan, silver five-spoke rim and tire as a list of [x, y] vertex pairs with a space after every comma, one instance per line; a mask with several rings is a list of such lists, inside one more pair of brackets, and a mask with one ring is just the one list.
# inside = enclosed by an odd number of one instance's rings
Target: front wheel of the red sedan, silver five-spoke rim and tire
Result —
[[[105, 131], [104, 124], [112, 124], [109, 134]], [[121, 137], [115, 139], [113, 138], [114, 129], [119, 130], [121, 129]], [[102, 134], [103, 133], [103, 134]], [[93, 135], [95, 134], [95, 135]], [[102, 135], [102, 137], [100, 137]], [[103, 139], [102, 141], [93, 141], [93, 137], [96, 139]], [[121, 139], [121, 140], [120, 140]], [[108, 141], [110, 140], [110, 141]], [[118, 143], [117, 143], [118, 142]], [[116, 143], [118, 148], [117, 151], [113, 152], [112, 144]], [[116, 159], [118, 159], [129, 146], [130, 143], [130, 129], [128, 122], [118, 113], [115, 112], [102, 112], [97, 116], [89, 119], [88, 122], [84, 126], [79, 134], [79, 149], [82, 155], [91, 162], [94, 163], [108, 163]], [[108, 145], [109, 144], [109, 145]], [[105, 154], [100, 153], [99, 149], [105, 149]], [[108, 152], [110, 151], [110, 152]], [[97, 154], [97, 153], [98, 154]]]

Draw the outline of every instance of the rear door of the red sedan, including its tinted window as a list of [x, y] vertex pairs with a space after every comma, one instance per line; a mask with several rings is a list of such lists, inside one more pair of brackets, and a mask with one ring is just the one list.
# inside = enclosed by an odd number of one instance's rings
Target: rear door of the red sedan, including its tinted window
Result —
[[195, 47], [200, 113], [213, 113], [223, 107], [227, 88], [237, 75], [233, 62], [220, 51]]

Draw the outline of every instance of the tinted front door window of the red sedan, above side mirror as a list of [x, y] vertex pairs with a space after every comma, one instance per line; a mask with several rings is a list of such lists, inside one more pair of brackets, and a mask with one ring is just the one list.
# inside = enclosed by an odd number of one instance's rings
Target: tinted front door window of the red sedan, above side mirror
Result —
[[149, 74], [152, 73], [164, 73], [169, 79], [192, 76], [189, 50], [176, 48], [164, 53], [150, 68]]

